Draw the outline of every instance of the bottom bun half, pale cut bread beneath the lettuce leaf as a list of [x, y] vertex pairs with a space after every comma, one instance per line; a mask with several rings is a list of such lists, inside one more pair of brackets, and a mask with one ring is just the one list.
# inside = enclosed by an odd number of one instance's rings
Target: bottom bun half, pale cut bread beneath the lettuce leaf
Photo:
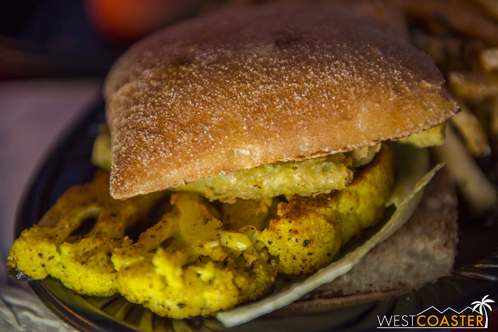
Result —
[[317, 313], [403, 294], [453, 270], [457, 196], [444, 168], [427, 184], [413, 216], [348, 273], [265, 315]]

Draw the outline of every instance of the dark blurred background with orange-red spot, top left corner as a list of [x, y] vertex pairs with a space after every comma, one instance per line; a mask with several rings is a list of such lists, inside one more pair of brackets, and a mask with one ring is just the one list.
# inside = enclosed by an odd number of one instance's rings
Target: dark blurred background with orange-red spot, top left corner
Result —
[[0, 79], [103, 78], [134, 41], [217, 0], [0, 2]]

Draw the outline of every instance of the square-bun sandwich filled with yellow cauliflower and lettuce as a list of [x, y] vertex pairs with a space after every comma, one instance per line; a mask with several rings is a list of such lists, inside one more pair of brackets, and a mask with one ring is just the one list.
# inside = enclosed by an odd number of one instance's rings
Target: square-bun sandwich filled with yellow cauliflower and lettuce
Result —
[[[237, 7], [156, 32], [105, 83], [109, 133], [94, 160], [110, 173], [69, 189], [7, 266], [170, 318], [216, 314], [230, 326], [285, 306], [411, 216], [437, 170], [424, 148], [458, 111], [443, 84], [427, 54], [330, 4]], [[454, 222], [445, 267], [418, 283], [451, 269]], [[324, 298], [309, 294], [300, 302]]]

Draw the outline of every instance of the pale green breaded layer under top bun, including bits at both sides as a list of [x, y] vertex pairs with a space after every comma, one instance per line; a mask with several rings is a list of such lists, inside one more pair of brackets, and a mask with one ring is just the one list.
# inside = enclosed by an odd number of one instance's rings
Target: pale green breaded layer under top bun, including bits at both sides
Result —
[[[417, 148], [443, 144], [446, 123], [398, 140]], [[365, 146], [325, 157], [304, 161], [276, 162], [256, 168], [236, 170], [229, 174], [213, 175], [176, 188], [172, 191], [192, 191], [223, 203], [237, 199], [263, 199], [279, 195], [299, 194], [316, 196], [332, 190], [344, 189], [352, 180], [355, 169], [370, 163], [380, 150], [380, 144]], [[92, 161], [111, 170], [111, 136], [107, 127], [94, 144]]]

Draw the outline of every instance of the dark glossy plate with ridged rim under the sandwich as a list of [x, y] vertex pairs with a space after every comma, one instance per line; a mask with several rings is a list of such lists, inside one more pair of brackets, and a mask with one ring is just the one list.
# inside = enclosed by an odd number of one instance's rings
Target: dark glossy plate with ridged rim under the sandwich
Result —
[[[34, 178], [19, 207], [15, 237], [34, 225], [69, 187], [92, 179], [96, 167], [90, 163], [97, 128], [104, 122], [104, 103], [94, 107], [49, 155]], [[469, 217], [470, 218], [470, 217]], [[374, 331], [377, 315], [417, 315], [435, 306], [462, 310], [486, 295], [498, 302], [498, 251], [484, 251], [482, 244], [498, 246], [497, 225], [482, 232], [484, 222], [461, 220], [459, 250], [468, 260], [457, 260], [458, 270], [437, 282], [383, 301], [285, 319], [256, 319], [234, 328], [225, 328], [214, 319], [171, 320], [158, 317], [140, 305], [128, 303], [119, 294], [87, 297], [65, 288], [57, 279], [29, 282], [38, 297], [56, 314], [85, 332], [102, 331]], [[486, 223], [484, 223], [486, 224]], [[488, 222], [489, 225], [489, 222]], [[479, 241], [476, 232], [482, 233]], [[462, 255], [461, 255], [462, 256]], [[483, 259], [483, 257], [486, 257]], [[459, 309], [460, 308], [460, 309]]]

